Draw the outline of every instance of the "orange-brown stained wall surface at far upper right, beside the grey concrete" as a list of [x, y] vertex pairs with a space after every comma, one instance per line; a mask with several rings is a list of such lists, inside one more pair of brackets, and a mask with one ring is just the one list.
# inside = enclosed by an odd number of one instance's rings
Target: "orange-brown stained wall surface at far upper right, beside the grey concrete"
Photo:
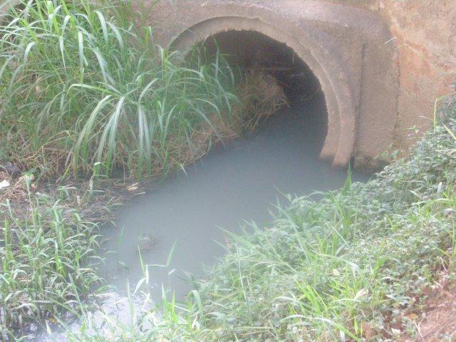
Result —
[[334, 0], [382, 17], [398, 51], [400, 67], [397, 137], [432, 124], [435, 99], [454, 93], [456, 82], [455, 0]]

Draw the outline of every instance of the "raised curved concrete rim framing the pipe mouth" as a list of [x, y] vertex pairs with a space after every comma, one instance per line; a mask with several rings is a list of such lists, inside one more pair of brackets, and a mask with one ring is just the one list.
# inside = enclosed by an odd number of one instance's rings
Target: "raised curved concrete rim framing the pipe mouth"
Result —
[[[306, 46], [282, 28], [271, 26], [259, 19], [246, 19], [235, 16], [221, 16], [202, 21], [177, 36], [172, 48], [188, 51], [192, 46], [217, 33], [227, 30], [256, 31], [269, 38], [284, 43], [311, 69], [326, 98], [328, 109], [328, 135], [321, 151], [321, 157], [333, 160], [333, 165], [345, 166], [351, 158], [356, 139], [356, 104], [350, 87], [349, 76], [338, 62], [338, 56], [328, 56], [316, 43], [307, 39]], [[336, 76], [336, 77], [333, 77]], [[343, 89], [343, 92], [339, 91]]]

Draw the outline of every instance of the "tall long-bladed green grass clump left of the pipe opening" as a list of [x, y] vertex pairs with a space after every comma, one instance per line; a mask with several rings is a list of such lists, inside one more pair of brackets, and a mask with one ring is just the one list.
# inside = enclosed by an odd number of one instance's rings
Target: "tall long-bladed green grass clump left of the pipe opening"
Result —
[[155, 46], [124, 1], [18, 8], [0, 27], [1, 159], [142, 177], [199, 157], [237, 115], [224, 59], [189, 66]]

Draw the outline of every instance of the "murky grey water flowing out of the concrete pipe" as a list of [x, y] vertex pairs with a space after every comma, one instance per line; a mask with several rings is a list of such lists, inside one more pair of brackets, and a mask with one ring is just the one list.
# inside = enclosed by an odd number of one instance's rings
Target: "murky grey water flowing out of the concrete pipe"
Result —
[[[162, 286], [168, 298], [175, 294], [177, 300], [185, 299], [192, 289], [188, 279], [204, 276], [204, 267], [223, 256], [224, 229], [239, 233], [252, 221], [263, 227], [274, 204], [286, 204], [284, 194], [341, 187], [347, 170], [318, 159], [325, 116], [323, 96], [281, 110], [253, 135], [215, 148], [120, 209], [115, 227], [102, 229], [103, 275], [117, 289], [112, 296], [125, 295], [127, 281], [134, 289], [143, 277], [141, 257], [150, 265], [155, 301], [162, 298]], [[369, 177], [352, 175], [353, 181]], [[43, 336], [38, 341], [66, 340]]]

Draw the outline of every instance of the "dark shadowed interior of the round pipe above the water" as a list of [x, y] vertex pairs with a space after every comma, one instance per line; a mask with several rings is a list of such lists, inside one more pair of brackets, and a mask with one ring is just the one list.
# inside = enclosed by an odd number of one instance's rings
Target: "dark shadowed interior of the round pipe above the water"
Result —
[[[205, 39], [198, 46], [205, 58], [217, 51], [242, 71], [265, 73], [274, 77], [289, 102], [288, 111], [299, 115], [305, 125], [302, 134], [312, 139], [319, 153], [328, 133], [328, 110], [321, 85], [309, 66], [286, 44], [256, 31], [223, 31]], [[264, 125], [274, 124], [280, 114], [271, 116]]]

